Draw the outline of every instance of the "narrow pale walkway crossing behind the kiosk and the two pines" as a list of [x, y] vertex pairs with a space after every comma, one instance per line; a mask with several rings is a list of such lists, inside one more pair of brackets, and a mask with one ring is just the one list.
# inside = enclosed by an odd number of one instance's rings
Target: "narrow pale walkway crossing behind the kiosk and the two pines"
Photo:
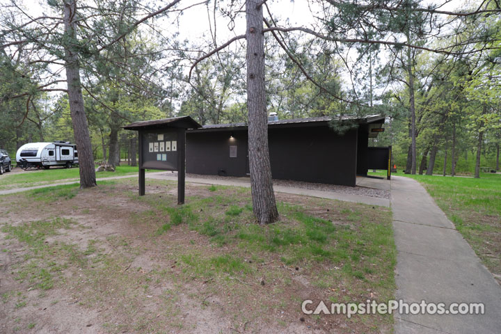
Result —
[[[172, 173], [169, 172], [155, 172], [155, 173], [146, 173], [147, 179], [156, 179], [156, 180], [170, 180], [177, 181], [177, 176], [170, 175]], [[132, 178], [138, 175], [123, 175], [123, 176], [115, 176], [115, 177], [102, 177], [98, 178], [97, 181], [105, 181], [105, 180], [117, 180], [117, 179], [125, 179]], [[220, 179], [203, 179], [198, 177], [186, 177], [186, 182], [198, 183], [198, 184], [219, 184], [222, 186], [244, 186], [250, 188], [250, 182], [247, 177], [229, 177], [228, 180], [220, 180]], [[16, 189], [8, 189], [0, 191], [1, 195], [8, 195], [12, 193], [19, 193], [22, 191], [29, 191], [33, 189], [45, 188], [47, 186], [60, 186], [64, 184], [76, 184], [79, 183], [79, 180], [69, 181], [69, 182], [59, 182], [54, 184], [44, 184], [41, 186], [30, 186], [26, 188], [16, 188]], [[390, 200], [386, 198], [376, 198], [369, 196], [360, 196], [353, 195], [349, 193], [335, 193], [333, 191], [321, 191], [321, 190], [311, 190], [311, 189], [302, 189], [296, 188], [292, 186], [273, 186], [273, 189], [278, 193], [293, 193], [296, 195], [304, 195], [304, 196], [312, 196], [319, 198], [328, 198], [331, 200], [344, 200], [347, 202], [356, 202], [356, 203], [364, 203], [368, 205], [379, 205], [383, 207], [390, 207]]]

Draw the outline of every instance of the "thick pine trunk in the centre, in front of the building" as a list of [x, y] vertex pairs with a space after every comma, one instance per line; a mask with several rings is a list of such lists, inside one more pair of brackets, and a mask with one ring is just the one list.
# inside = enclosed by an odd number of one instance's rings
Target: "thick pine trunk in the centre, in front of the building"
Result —
[[264, 86], [264, 35], [259, 0], [246, 1], [247, 111], [250, 191], [253, 212], [260, 224], [278, 219], [268, 146], [268, 118]]

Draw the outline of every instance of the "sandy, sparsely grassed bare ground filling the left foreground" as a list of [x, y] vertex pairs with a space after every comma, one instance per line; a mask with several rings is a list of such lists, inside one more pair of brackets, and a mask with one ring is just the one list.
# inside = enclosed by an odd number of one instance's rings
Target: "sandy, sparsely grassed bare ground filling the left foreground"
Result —
[[[326, 274], [339, 269], [335, 264], [286, 265], [278, 253], [218, 245], [186, 224], [159, 234], [172, 216], [156, 203], [174, 203], [175, 189], [149, 182], [149, 195], [137, 198], [134, 180], [120, 180], [81, 191], [1, 196], [0, 333], [391, 331], [388, 317], [305, 317], [298, 307], [303, 299], [364, 301], [392, 292], [391, 286], [375, 288], [375, 274], [336, 280], [344, 276]], [[248, 190], [224, 191], [204, 209], [228, 209], [228, 197], [240, 205], [248, 201]], [[186, 196], [210, 202], [214, 193], [190, 185]], [[285, 194], [278, 200], [332, 221], [352, 205]], [[385, 211], [374, 219], [389, 217]], [[203, 261], [190, 267], [186, 260], [222, 254], [237, 254], [244, 269], [217, 271]]]

